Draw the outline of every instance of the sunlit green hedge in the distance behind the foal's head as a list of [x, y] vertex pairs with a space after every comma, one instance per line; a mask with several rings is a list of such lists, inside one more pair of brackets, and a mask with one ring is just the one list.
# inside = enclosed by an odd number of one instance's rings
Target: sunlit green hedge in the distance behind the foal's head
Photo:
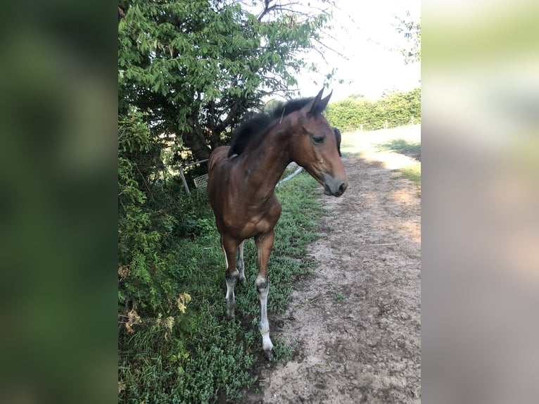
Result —
[[326, 118], [341, 130], [377, 130], [421, 122], [421, 89], [407, 93], [392, 91], [381, 99], [370, 101], [361, 96], [351, 96], [343, 101], [330, 103]]

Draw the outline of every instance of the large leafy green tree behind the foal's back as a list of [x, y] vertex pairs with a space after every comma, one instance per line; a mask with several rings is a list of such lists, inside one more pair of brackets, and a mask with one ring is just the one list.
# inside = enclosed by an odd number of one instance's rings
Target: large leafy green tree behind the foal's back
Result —
[[[323, 3], [324, 4], [324, 3]], [[307, 68], [326, 9], [233, 0], [120, 0], [120, 113], [137, 106], [154, 136], [175, 134], [198, 160], [267, 94]]]

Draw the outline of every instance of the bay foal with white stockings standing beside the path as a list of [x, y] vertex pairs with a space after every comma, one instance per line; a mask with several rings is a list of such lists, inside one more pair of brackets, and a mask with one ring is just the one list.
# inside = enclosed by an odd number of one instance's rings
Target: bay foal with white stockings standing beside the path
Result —
[[[208, 162], [208, 198], [227, 260], [228, 320], [234, 318], [234, 286], [245, 282], [243, 241], [254, 237], [260, 302], [258, 328], [262, 351], [272, 360], [273, 343], [267, 320], [268, 260], [274, 227], [281, 215], [274, 187], [292, 161], [324, 187], [324, 194], [341, 196], [348, 177], [338, 153], [336, 134], [322, 111], [329, 96], [280, 103], [270, 113], [260, 113], [236, 128], [230, 146], [220, 146]], [[236, 260], [237, 253], [237, 260]]]

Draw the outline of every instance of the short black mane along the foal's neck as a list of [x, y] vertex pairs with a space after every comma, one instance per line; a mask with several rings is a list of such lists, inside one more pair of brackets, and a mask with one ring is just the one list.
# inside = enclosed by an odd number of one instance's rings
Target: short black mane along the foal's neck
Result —
[[[293, 99], [290, 101], [279, 101], [273, 106], [270, 111], [256, 113], [247, 118], [246, 121], [241, 123], [234, 134], [232, 134], [232, 140], [230, 141], [230, 149], [228, 157], [234, 156], [234, 154], [241, 154], [249, 144], [254, 144], [256, 141], [260, 141], [262, 134], [264, 134], [268, 127], [270, 127], [275, 121], [281, 120], [286, 115], [290, 115], [294, 111], [299, 111], [301, 108], [310, 103], [315, 97], [307, 97], [303, 99]], [[322, 108], [323, 109], [323, 108]], [[322, 113], [322, 109], [317, 108], [312, 113]]]

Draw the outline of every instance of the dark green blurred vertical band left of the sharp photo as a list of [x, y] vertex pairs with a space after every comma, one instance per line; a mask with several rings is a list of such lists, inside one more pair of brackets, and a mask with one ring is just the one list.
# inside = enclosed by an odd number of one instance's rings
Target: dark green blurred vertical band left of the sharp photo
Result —
[[4, 7], [0, 402], [104, 402], [117, 391], [117, 6]]

